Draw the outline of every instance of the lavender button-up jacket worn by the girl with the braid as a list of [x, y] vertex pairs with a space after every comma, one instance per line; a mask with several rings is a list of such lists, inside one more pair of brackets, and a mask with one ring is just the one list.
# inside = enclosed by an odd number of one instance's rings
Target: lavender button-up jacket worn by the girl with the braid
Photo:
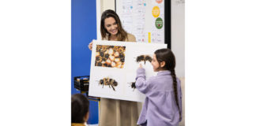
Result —
[[145, 80], [145, 69], [137, 69], [136, 88], [146, 95], [137, 124], [146, 126], [178, 126], [179, 109], [182, 113], [182, 91], [177, 78], [179, 108], [175, 102], [170, 71], [160, 71]]

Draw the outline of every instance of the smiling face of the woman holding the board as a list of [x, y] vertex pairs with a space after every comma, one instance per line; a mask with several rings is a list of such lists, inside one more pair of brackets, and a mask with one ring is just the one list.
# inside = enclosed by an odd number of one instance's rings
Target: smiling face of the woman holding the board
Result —
[[110, 33], [111, 35], [117, 35], [118, 31], [119, 31], [119, 26], [115, 21], [115, 18], [113, 17], [107, 17], [104, 20], [104, 27], [107, 29], [108, 33]]

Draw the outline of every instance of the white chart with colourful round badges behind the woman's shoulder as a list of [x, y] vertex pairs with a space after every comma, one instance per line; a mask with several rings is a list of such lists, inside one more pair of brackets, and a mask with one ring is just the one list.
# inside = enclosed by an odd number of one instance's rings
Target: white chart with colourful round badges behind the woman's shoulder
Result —
[[122, 27], [141, 43], [164, 43], [164, 0], [116, 0]]

